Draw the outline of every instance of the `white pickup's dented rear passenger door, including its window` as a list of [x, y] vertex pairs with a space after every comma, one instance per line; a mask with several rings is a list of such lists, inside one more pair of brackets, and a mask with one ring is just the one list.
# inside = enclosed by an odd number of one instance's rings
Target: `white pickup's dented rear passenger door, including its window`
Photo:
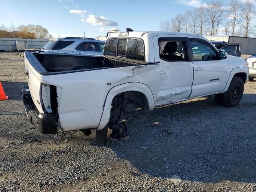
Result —
[[156, 105], [186, 100], [192, 91], [193, 64], [188, 57], [186, 36], [154, 36], [155, 62], [160, 62]]

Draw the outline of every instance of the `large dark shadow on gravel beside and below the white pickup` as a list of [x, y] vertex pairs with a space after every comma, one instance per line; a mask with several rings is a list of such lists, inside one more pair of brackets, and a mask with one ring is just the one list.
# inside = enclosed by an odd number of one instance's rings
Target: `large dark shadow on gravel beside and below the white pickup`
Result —
[[158, 107], [130, 120], [130, 140], [110, 148], [139, 172], [198, 182], [256, 182], [256, 94], [235, 108], [214, 97]]

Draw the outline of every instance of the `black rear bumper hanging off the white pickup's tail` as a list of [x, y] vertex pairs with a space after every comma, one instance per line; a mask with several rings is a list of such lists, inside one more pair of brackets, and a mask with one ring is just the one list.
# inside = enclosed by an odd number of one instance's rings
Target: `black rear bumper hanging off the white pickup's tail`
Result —
[[56, 134], [54, 114], [41, 114], [35, 108], [28, 87], [22, 87], [23, 103], [28, 116], [28, 120], [42, 134]]

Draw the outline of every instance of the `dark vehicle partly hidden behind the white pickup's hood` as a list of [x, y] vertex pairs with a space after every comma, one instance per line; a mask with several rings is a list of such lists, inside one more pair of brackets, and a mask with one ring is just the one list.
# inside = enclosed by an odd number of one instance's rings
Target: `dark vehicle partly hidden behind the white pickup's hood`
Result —
[[242, 44], [240, 43], [228, 43], [224, 41], [211, 41], [212, 44], [222, 51], [226, 51], [229, 55], [241, 57]]

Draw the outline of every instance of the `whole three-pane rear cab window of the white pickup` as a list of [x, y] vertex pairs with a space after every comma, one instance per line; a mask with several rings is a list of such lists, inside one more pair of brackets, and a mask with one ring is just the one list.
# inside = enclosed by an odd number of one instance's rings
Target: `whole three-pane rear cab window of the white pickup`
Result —
[[144, 43], [140, 39], [109, 38], [106, 40], [103, 55], [144, 61]]

